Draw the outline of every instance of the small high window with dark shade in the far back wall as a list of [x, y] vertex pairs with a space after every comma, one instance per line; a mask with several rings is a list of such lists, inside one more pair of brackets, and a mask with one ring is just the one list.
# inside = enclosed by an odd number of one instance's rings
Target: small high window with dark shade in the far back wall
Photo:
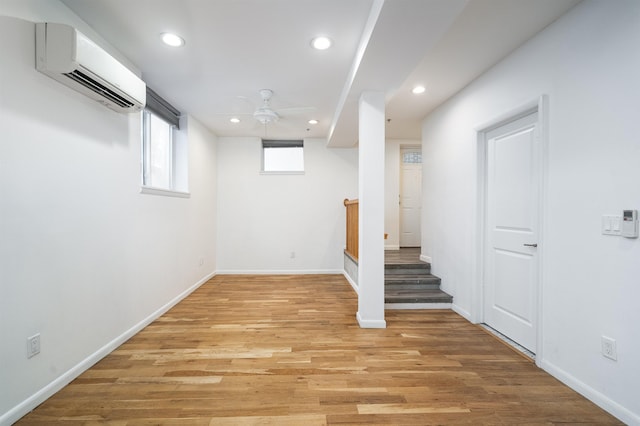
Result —
[[262, 140], [262, 171], [304, 173], [304, 144], [301, 140]]

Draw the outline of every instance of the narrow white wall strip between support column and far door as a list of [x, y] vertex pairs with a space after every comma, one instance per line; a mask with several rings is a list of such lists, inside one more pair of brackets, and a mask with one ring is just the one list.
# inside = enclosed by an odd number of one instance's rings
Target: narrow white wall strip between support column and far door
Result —
[[387, 139], [384, 157], [384, 232], [386, 250], [400, 248], [400, 166], [403, 147], [420, 146], [421, 141], [412, 139]]

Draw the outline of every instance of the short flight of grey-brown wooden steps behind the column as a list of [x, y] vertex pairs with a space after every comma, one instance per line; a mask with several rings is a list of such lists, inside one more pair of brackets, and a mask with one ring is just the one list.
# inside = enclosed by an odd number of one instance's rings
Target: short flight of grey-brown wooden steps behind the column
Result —
[[448, 309], [453, 297], [440, 289], [440, 278], [420, 260], [420, 249], [385, 252], [384, 299], [388, 309]]

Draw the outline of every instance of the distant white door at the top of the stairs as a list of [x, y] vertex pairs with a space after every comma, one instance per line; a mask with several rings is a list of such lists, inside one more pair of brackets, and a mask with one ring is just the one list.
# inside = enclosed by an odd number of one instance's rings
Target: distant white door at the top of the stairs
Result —
[[420, 247], [422, 150], [402, 148], [400, 154], [400, 247]]

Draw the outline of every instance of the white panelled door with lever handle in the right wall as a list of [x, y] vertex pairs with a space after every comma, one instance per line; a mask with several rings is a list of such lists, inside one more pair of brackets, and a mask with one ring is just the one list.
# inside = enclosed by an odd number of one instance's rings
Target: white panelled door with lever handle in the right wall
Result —
[[484, 321], [536, 352], [538, 294], [538, 114], [486, 135]]

